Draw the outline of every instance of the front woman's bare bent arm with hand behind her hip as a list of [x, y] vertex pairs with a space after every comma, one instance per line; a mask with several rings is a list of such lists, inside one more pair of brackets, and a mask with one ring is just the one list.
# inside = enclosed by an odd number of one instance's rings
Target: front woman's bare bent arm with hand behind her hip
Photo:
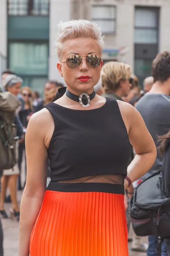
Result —
[[[127, 176], [133, 181], [142, 177], [153, 166], [156, 159], [156, 146], [139, 112], [128, 103], [119, 103], [129, 140], [136, 156], [127, 168]], [[128, 182], [125, 180], [125, 188]]]

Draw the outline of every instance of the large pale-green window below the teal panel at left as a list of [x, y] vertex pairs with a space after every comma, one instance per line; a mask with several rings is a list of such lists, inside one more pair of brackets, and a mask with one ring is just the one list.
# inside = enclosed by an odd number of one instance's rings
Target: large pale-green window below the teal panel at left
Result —
[[48, 42], [9, 42], [8, 67], [23, 78], [23, 85], [42, 88], [48, 78]]

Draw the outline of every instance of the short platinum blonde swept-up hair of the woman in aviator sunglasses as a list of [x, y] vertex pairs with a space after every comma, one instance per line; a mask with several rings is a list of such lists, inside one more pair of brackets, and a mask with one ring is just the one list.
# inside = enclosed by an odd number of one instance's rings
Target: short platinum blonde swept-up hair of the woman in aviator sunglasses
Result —
[[60, 22], [58, 25], [59, 32], [56, 37], [55, 45], [59, 61], [62, 60], [62, 50], [68, 40], [73, 38], [92, 38], [96, 41], [100, 55], [104, 47], [104, 36], [101, 29], [95, 22], [89, 20], [70, 20]]

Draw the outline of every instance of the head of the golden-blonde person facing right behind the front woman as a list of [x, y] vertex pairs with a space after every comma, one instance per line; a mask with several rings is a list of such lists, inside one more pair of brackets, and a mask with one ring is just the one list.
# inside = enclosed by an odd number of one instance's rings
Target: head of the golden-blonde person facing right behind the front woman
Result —
[[133, 83], [131, 68], [128, 64], [117, 61], [109, 61], [101, 71], [103, 97], [122, 100], [127, 97]]

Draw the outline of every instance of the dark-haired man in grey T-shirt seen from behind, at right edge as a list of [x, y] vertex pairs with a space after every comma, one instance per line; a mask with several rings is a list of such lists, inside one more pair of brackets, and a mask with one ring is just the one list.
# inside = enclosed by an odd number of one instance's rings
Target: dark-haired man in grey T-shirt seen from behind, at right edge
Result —
[[[148, 131], [158, 148], [158, 135], [167, 134], [170, 129], [170, 52], [159, 53], [153, 61], [152, 88], [136, 104], [136, 109], [141, 113]], [[157, 150], [157, 157], [152, 168], [144, 175], [143, 179], [161, 171], [162, 157]], [[159, 256], [156, 252], [156, 236], [149, 236], [147, 256]], [[167, 256], [166, 244], [162, 244], [161, 256]]]

